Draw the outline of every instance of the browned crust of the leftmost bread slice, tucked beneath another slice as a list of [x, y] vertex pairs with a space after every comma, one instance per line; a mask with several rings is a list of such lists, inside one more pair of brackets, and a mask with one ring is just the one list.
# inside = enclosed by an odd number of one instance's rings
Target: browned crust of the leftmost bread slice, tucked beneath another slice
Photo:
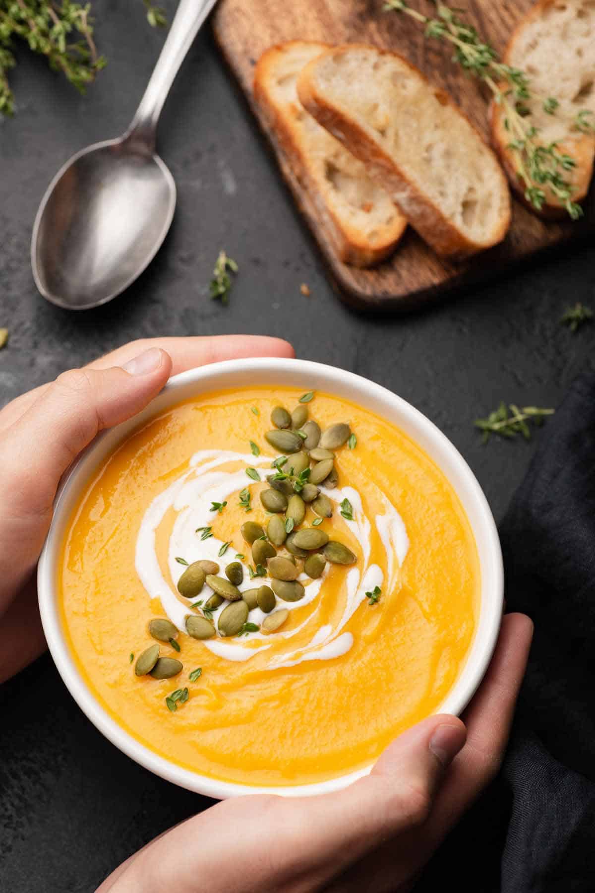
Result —
[[[326, 203], [325, 196], [318, 188], [312, 165], [309, 159], [304, 156], [299, 145], [300, 141], [294, 130], [291, 111], [288, 113], [285, 108], [279, 107], [268, 88], [269, 79], [272, 76], [271, 72], [276, 68], [281, 56], [293, 48], [312, 46], [315, 43], [318, 43], [318, 41], [290, 40], [277, 44], [277, 46], [269, 47], [260, 56], [256, 64], [253, 82], [254, 98], [265, 115], [280, 150], [290, 163], [293, 173], [310, 193], [310, 198], [318, 213], [321, 228], [325, 237], [333, 246], [335, 254], [338, 255], [343, 263], [360, 268], [369, 267], [380, 263], [393, 254], [404, 230], [407, 228], [407, 221], [402, 217], [399, 209], [395, 207], [393, 223], [384, 226], [384, 237], [379, 238], [377, 243], [372, 245], [362, 230], [336, 214], [334, 209]], [[320, 43], [318, 46], [321, 53], [332, 49], [330, 44]], [[302, 111], [302, 108], [296, 108], [293, 110], [293, 113], [298, 114]]]

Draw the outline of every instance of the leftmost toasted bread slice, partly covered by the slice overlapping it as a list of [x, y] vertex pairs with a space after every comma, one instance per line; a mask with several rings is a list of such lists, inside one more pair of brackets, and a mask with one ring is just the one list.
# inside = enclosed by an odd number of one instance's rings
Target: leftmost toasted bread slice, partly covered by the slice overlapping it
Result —
[[326, 237], [344, 263], [367, 267], [392, 254], [407, 221], [364, 165], [300, 104], [304, 65], [328, 48], [293, 40], [260, 56], [254, 96], [295, 175], [313, 196]]

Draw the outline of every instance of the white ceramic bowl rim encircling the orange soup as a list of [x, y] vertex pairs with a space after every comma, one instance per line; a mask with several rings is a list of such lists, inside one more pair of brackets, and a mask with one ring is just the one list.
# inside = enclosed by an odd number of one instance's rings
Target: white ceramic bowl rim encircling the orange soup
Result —
[[79, 675], [76, 664], [66, 644], [58, 611], [56, 591], [56, 570], [62, 538], [70, 513], [77, 504], [87, 480], [95, 467], [112, 453], [114, 447], [136, 428], [140, 421], [161, 413], [169, 405], [188, 397], [199, 396], [203, 392], [244, 386], [249, 381], [253, 385], [288, 385], [304, 390], [327, 391], [336, 396], [346, 397], [362, 405], [387, 421], [393, 422], [420, 447], [426, 450], [434, 462], [442, 469], [450, 484], [456, 490], [467, 512], [467, 517], [475, 535], [481, 568], [481, 606], [479, 622], [467, 663], [459, 679], [441, 705], [441, 713], [460, 714], [475, 689], [482, 680], [500, 629], [503, 597], [503, 570], [500, 541], [492, 513], [483, 496], [473, 472], [459, 452], [435, 425], [414, 409], [413, 406], [381, 388], [371, 381], [362, 379], [351, 372], [335, 369], [305, 360], [282, 360], [275, 358], [232, 360], [226, 363], [213, 363], [200, 369], [183, 372], [171, 379], [143, 413], [124, 422], [117, 428], [105, 431], [87, 448], [74, 463], [65, 480], [62, 481], [54, 509], [54, 520], [48, 533], [45, 547], [39, 561], [38, 591], [39, 608], [44, 625], [45, 637], [54, 657], [58, 671], [66, 683], [70, 694], [81, 710], [103, 732], [116, 747], [130, 756], [136, 763], [173, 781], [183, 788], [197, 791], [208, 797], [232, 797], [238, 794], [275, 793], [286, 796], [319, 794], [343, 788], [369, 770], [351, 772], [340, 778], [298, 787], [249, 787], [226, 781], [213, 780], [180, 766], [149, 750], [128, 735], [103, 706], [87, 689]]

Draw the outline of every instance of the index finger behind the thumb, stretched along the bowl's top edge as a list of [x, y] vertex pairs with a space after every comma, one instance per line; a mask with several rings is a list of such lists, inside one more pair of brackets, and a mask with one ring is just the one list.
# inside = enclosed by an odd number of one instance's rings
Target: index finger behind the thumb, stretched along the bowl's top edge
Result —
[[[292, 359], [295, 355], [293, 347], [287, 341], [264, 335], [142, 338], [112, 350], [110, 354], [88, 363], [85, 368], [108, 369], [111, 366], [121, 366], [133, 356], [141, 354], [151, 347], [161, 347], [169, 354], [172, 361], [172, 375], [178, 375], [178, 372], [194, 369], [196, 366], [219, 363], [221, 360], [242, 359], [248, 356], [280, 356]], [[37, 400], [37, 397], [49, 387], [49, 384], [40, 385], [4, 406], [4, 409], [0, 411], [0, 431], [19, 419], [22, 413], [26, 412], [29, 406]]]

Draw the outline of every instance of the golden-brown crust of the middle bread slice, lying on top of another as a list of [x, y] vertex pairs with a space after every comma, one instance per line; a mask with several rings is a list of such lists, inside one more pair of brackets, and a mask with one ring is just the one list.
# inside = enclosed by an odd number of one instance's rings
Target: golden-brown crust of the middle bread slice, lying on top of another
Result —
[[303, 106], [312, 114], [319, 123], [329, 130], [335, 137], [341, 139], [356, 157], [358, 157], [370, 173], [378, 182], [382, 183], [387, 189], [389, 195], [393, 198], [395, 204], [401, 208], [401, 212], [407, 217], [411, 226], [417, 230], [419, 235], [425, 239], [428, 245], [434, 248], [438, 255], [451, 258], [464, 258], [474, 255], [478, 251], [498, 244], [505, 238], [510, 225], [510, 195], [508, 184], [504, 174], [501, 171], [497, 157], [494, 156], [495, 166], [501, 177], [501, 188], [503, 196], [507, 196], [504, 201], [504, 210], [501, 214], [500, 223], [494, 230], [492, 238], [486, 243], [477, 243], [467, 237], [465, 233], [459, 230], [448, 218], [442, 213], [440, 208], [434, 204], [427, 196], [425, 196], [417, 186], [411, 182], [406, 174], [394, 163], [393, 159], [384, 152], [373, 138], [370, 138], [366, 130], [359, 127], [356, 121], [345, 116], [341, 110], [335, 108], [332, 104], [326, 102], [323, 96], [318, 94], [315, 79], [313, 77], [316, 71], [316, 65], [322, 56], [335, 53], [350, 52], [354, 47], [371, 51], [376, 54], [389, 56], [399, 60], [412, 71], [418, 78], [425, 81], [428, 90], [434, 92], [435, 96], [440, 97], [443, 104], [450, 104], [459, 115], [461, 115], [469, 127], [473, 129], [477, 138], [482, 142], [483, 146], [491, 153], [492, 149], [485, 142], [482, 135], [475, 128], [473, 123], [469, 121], [459, 107], [450, 99], [450, 96], [443, 90], [435, 88], [434, 85], [419, 71], [415, 65], [409, 62], [398, 53], [389, 50], [383, 50], [376, 46], [368, 44], [348, 44], [333, 47], [325, 51], [318, 59], [312, 60], [306, 65], [302, 74], [298, 79], [297, 89], [298, 96]]

